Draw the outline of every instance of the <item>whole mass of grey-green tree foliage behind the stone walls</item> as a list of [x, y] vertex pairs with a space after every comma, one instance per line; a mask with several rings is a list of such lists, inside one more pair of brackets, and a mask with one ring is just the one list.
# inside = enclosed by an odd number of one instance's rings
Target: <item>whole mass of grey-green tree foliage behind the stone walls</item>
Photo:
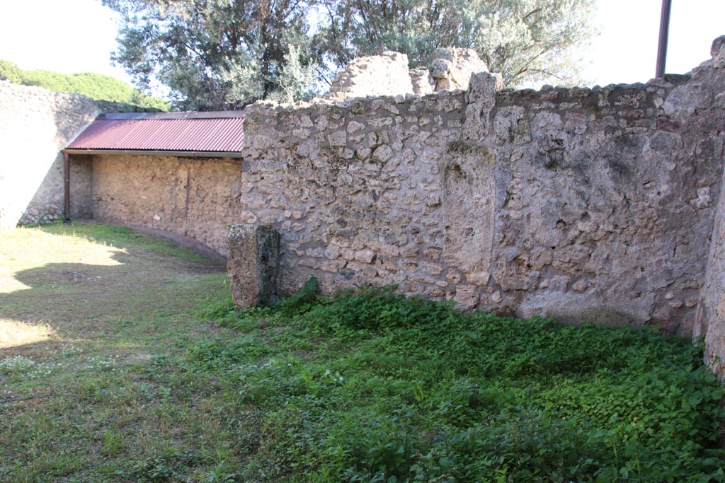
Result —
[[112, 59], [179, 109], [238, 109], [318, 93], [355, 56], [426, 65], [438, 47], [476, 49], [507, 85], [576, 80], [573, 48], [593, 0], [103, 0], [121, 14]]

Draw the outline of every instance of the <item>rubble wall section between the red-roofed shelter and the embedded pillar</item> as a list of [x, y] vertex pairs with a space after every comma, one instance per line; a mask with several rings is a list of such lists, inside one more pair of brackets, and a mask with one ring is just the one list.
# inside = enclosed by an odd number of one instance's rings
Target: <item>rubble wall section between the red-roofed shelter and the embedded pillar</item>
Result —
[[281, 232], [281, 292], [315, 275], [444, 298], [443, 159], [464, 112], [463, 91], [248, 108], [240, 221]]

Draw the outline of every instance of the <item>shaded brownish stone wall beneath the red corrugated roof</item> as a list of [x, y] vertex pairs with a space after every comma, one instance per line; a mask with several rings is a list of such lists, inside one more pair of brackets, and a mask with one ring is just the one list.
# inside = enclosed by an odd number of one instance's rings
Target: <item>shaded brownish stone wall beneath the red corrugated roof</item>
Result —
[[[73, 156], [74, 164], [90, 157]], [[226, 255], [225, 227], [240, 217], [240, 165], [240, 159], [92, 156], [91, 195], [83, 198], [90, 206], [79, 209], [96, 221], [194, 238]]]

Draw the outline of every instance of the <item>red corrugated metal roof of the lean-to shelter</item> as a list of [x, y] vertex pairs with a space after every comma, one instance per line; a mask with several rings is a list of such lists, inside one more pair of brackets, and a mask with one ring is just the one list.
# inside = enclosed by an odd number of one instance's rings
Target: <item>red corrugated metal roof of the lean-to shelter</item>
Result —
[[238, 153], [244, 145], [240, 112], [104, 114], [67, 149]]

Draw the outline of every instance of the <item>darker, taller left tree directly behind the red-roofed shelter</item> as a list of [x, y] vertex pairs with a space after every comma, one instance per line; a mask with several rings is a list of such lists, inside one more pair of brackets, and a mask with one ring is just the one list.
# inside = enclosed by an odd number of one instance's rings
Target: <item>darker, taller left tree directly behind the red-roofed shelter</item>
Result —
[[237, 109], [309, 94], [312, 55], [303, 0], [103, 0], [120, 12], [112, 56], [139, 88], [167, 85], [181, 109]]

